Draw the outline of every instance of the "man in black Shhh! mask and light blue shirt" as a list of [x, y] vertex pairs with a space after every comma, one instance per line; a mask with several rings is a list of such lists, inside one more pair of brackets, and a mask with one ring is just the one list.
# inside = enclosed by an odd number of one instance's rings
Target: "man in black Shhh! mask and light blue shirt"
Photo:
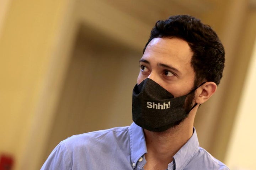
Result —
[[43, 169], [228, 170], [199, 147], [194, 118], [224, 68], [217, 34], [197, 18], [156, 22], [140, 59], [131, 126], [72, 136]]

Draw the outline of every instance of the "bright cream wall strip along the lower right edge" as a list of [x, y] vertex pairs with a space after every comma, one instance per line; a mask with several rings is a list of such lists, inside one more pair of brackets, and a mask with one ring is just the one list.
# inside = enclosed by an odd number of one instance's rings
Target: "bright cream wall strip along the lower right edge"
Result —
[[[256, 41], [255, 41], [256, 42]], [[256, 43], [231, 133], [225, 162], [234, 170], [256, 170]]]

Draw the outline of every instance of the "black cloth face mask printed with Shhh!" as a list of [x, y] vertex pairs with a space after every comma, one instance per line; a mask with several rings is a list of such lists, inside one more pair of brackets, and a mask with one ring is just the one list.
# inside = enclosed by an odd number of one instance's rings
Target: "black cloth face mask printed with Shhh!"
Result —
[[143, 129], [154, 132], [162, 132], [175, 126], [177, 122], [184, 120], [197, 105], [197, 103], [194, 104], [188, 111], [183, 108], [189, 94], [174, 98], [170, 92], [155, 81], [149, 78], [145, 79], [139, 85], [136, 84], [133, 89], [132, 116], [134, 123]]

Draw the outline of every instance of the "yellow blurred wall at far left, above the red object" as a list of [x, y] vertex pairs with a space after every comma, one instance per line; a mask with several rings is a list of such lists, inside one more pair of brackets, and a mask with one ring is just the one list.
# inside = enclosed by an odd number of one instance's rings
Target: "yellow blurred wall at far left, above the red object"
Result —
[[65, 65], [65, 55], [55, 60], [67, 53], [57, 49], [60, 42], [65, 47], [59, 35], [66, 31], [68, 5], [63, 0], [11, 1], [6, 10], [0, 39], [0, 153], [11, 154], [18, 170], [38, 166], [50, 124], [47, 109]]

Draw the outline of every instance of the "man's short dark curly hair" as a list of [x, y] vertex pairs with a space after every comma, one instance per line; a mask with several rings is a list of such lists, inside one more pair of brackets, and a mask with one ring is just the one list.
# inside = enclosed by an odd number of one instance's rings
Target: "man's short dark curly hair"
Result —
[[176, 37], [188, 42], [193, 56], [191, 66], [196, 72], [194, 85], [213, 81], [217, 85], [222, 78], [225, 51], [214, 30], [199, 19], [189, 15], [171, 16], [156, 22], [143, 53], [153, 38]]

